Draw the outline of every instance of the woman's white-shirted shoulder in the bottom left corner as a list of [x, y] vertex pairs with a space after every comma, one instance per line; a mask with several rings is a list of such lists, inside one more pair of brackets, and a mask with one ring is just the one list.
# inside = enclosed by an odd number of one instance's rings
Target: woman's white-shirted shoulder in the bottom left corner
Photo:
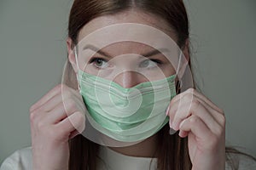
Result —
[[32, 169], [32, 147], [26, 147], [7, 157], [0, 170], [30, 170]]

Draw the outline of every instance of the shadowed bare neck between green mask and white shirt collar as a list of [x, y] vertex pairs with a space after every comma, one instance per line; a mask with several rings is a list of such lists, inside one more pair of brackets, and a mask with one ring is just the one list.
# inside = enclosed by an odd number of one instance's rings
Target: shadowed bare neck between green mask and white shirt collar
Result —
[[126, 156], [155, 157], [157, 149], [157, 133], [138, 144], [125, 147], [109, 147], [111, 150]]

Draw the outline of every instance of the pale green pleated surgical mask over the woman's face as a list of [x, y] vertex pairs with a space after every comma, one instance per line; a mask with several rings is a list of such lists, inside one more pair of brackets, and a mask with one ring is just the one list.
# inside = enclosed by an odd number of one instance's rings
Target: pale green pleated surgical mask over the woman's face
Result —
[[122, 142], [147, 139], [166, 125], [166, 108], [176, 95], [175, 78], [143, 82], [132, 88], [79, 70], [80, 94], [91, 126]]

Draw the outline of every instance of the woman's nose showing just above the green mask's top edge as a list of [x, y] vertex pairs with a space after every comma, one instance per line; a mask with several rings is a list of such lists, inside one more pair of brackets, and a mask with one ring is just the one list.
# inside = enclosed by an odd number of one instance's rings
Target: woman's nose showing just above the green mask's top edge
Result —
[[148, 82], [148, 79], [138, 72], [125, 71], [115, 77], [113, 82], [118, 83], [123, 88], [132, 88], [142, 82]]

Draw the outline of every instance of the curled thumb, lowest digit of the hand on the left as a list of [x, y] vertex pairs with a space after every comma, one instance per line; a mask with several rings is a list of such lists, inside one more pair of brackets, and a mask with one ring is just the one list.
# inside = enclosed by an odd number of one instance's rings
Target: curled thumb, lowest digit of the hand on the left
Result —
[[76, 111], [72, 115], [66, 117], [64, 120], [56, 124], [56, 126], [61, 128], [63, 133], [69, 133], [69, 135], [74, 130], [82, 133], [85, 127], [85, 116], [79, 111]]

